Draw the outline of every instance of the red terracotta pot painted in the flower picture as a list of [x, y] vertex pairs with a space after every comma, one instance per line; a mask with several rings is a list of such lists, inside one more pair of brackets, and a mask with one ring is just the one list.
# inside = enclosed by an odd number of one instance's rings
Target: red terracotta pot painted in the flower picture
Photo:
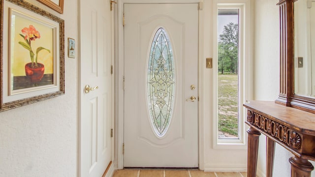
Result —
[[31, 68], [32, 63], [27, 63], [25, 65], [25, 74], [31, 78], [31, 82], [40, 82], [44, 76], [45, 67], [42, 63], [37, 63], [36, 68]]

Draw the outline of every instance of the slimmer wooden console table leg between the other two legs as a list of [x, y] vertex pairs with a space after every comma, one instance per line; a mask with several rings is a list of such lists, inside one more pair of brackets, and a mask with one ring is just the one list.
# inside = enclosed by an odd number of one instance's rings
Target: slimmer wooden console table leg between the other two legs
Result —
[[266, 141], [266, 177], [272, 177], [272, 172], [274, 168], [275, 142], [268, 137], [266, 138]]

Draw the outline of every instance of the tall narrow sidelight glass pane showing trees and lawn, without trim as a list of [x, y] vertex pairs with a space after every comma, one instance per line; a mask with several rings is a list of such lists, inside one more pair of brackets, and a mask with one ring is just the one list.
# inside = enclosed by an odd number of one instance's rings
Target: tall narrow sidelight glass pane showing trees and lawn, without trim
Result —
[[239, 9], [218, 9], [218, 137], [239, 134]]

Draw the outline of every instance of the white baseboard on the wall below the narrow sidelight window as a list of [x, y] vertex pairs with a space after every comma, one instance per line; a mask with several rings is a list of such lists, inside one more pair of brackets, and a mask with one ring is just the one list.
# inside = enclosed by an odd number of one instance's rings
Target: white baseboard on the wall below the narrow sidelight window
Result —
[[247, 165], [204, 164], [205, 172], [247, 172]]

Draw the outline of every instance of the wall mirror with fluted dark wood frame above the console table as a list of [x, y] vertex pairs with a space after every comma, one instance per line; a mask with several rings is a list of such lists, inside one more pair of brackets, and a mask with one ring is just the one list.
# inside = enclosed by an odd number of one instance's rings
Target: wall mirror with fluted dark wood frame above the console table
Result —
[[276, 103], [315, 113], [315, 0], [279, 0], [278, 5], [280, 95]]

